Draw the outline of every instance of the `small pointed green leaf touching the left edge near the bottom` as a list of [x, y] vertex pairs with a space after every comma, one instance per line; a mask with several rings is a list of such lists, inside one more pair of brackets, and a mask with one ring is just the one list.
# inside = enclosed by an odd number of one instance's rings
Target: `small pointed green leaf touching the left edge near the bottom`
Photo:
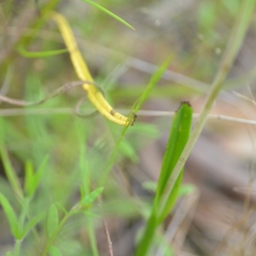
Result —
[[11, 207], [8, 199], [2, 193], [0, 193], [0, 204], [2, 205], [3, 211], [8, 219], [9, 227], [12, 232], [12, 235], [15, 236], [16, 239], [18, 239], [18, 237], [19, 237], [18, 219], [15, 215], [15, 211], [14, 211], [13, 207]]

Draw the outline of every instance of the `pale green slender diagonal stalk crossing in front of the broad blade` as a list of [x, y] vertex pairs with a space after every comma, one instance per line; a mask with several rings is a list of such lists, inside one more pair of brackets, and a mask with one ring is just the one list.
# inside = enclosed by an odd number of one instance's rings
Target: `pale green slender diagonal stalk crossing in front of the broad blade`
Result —
[[222, 61], [220, 62], [218, 72], [216, 73], [215, 78], [212, 82], [212, 89], [210, 90], [207, 100], [203, 106], [201, 115], [195, 124], [195, 129], [191, 133], [189, 138], [189, 142], [183, 150], [183, 154], [181, 154], [180, 159], [177, 161], [177, 165], [175, 166], [172, 176], [170, 178], [170, 186], [168, 189], [168, 193], [166, 193], [166, 199], [163, 201], [161, 208], [166, 205], [167, 196], [171, 193], [172, 187], [177, 180], [179, 173], [181, 172], [186, 160], [189, 157], [189, 154], [192, 148], [195, 145], [198, 137], [201, 134], [201, 131], [206, 124], [207, 115], [210, 113], [212, 109], [213, 102], [218, 96], [219, 91], [222, 89], [224, 84], [224, 79], [230, 72], [230, 68], [232, 67], [236, 55], [238, 54], [239, 49], [241, 48], [241, 44], [247, 32], [247, 27], [249, 26], [249, 22], [253, 15], [253, 10], [255, 6], [256, 0], [244, 0], [241, 2], [241, 14], [239, 15], [238, 20], [236, 21], [236, 26], [234, 27], [230, 40], [227, 44], [227, 47], [224, 51], [224, 55]]

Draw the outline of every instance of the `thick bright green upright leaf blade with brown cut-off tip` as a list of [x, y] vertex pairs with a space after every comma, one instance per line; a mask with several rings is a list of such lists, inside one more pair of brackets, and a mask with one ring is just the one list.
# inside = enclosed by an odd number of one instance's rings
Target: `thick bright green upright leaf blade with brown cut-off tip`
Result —
[[174, 189], [172, 189], [172, 194], [169, 195], [168, 201], [161, 211], [161, 195], [164, 195], [166, 185], [168, 184], [168, 179], [172, 174], [172, 170], [175, 167], [177, 160], [182, 154], [183, 148], [189, 139], [191, 121], [192, 108], [189, 105], [189, 102], [183, 102], [172, 120], [170, 137], [166, 145], [166, 154], [164, 156], [160, 172], [160, 179], [157, 184], [153, 207], [151, 210], [150, 218], [148, 219], [146, 228], [143, 233], [143, 238], [137, 247], [135, 253], [136, 256], [148, 255], [148, 250], [152, 244], [152, 241], [154, 240], [154, 231], [157, 229], [160, 221], [166, 217], [166, 212], [172, 209], [172, 206], [177, 199], [178, 190], [182, 181], [182, 173], [178, 177], [175, 186], [173, 187]]

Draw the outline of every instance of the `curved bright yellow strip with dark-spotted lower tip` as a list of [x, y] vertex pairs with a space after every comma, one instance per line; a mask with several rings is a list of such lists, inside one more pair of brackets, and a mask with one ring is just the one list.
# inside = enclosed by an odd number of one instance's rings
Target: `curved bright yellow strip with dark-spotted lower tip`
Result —
[[[69, 26], [66, 18], [56, 12], [53, 12], [52, 19], [55, 20], [57, 26], [61, 31], [62, 38], [67, 45], [73, 67], [79, 79], [93, 83], [94, 80], [91, 77], [90, 71], [79, 51], [78, 45], [75, 41], [75, 38], [73, 37], [72, 29]], [[83, 88], [87, 91], [87, 96], [90, 102], [107, 119], [113, 121], [118, 125], [133, 125], [135, 117], [132, 119], [128, 119], [124, 115], [113, 110], [113, 108], [108, 104], [108, 102], [102, 95], [102, 92], [98, 90], [94, 84], [83, 84]]]

